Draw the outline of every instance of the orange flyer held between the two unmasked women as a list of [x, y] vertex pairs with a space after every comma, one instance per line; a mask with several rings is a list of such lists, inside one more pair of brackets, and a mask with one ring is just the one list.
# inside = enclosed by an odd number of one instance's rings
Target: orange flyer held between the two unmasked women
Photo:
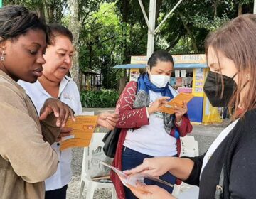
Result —
[[75, 122], [68, 119], [65, 127], [71, 127], [73, 130], [70, 136], [63, 137], [60, 142], [60, 150], [89, 146], [96, 124], [97, 116], [78, 115], [75, 117]]

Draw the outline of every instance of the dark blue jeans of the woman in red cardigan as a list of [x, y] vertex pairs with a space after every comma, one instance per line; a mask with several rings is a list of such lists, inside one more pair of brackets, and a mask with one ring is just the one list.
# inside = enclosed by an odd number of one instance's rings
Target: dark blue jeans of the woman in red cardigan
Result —
[[[138, 166], [139, 164], [143, 163], [144, 158], [152, 158], [152, 156], [139, 153], [137, 151], [134, 151], [134, 150], [129, 149], [126, 146], [124, 146], [123, 150], [122, 150], [122, 170], [128, 170], [128, 169]], [[173, 185], [176, 182], [176, 178], [174, 176], [172, 176], [171, 173], [169, 173], [169, 172], [167, 172], [163, 176], [161, 176], [160, 179], [163, 181], [169, 182]], [[158, 185], [159, 187], [167, 190], [169, 193], [172, 193], [172, 191], [174, 189], [168, 185], [164, 185], [162, 183], [151, 181], [149, 179], [146, 179], [144, 182], [147, 185]], [[136, 198], [136, 196], [132, 194], [132, 191], [129, 190], [129, 188], [127, 188], [127, 187], [124, 187], [124, 193], [125, 193], [126, 199]]]

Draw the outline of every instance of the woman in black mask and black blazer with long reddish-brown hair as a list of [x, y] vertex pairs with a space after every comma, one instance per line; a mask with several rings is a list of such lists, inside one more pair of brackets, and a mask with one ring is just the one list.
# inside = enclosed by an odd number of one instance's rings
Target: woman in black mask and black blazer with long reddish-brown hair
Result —
[[[238, 16], [206, 39], [210, 72], [204, 91], [214, 107], [233, 109], [230, 124], [203, 156], [148, 158], [126, 173], [166, 171], [199, 186], [199, 198], [256, 198], [256, 15]], [[142, 185], [138, 198], [174, 198]]]

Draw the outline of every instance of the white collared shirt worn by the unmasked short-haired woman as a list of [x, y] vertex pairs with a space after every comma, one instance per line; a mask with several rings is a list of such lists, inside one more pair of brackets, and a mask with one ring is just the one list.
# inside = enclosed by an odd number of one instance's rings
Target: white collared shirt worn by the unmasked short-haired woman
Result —
[[[48, 94], [48, 92], [46, 92], [46, 90], [44, 90], [41, 83], [38, 81], [31, 84], [29, 82], [23, 82], [19, 80], [18, 84], [21, 85], [26, 90], [26, 94], [31, 97], [31, 100], [35, 105], [39, 115], [40, 109], [43, 107], [43, 103], [51, 96]], [[75, 82], [68, 76], [65, 76], [60, 82], [58, 99], [60, 99], [61, 102], [68, 104], [68, 106], [73, 109], [75, 114], [82, 113], [82, 105], [80, 102], [78, 87]], [[46, 190], [63, 188], [63, 186], [67, 185], [71, 181], [72, 176], [71, 149], [60, 151], [60, 144], [57, 142], [52, 145], [52, 148], [57, 152], [60, 162], [58, 163], [58, 169], [56, 173], [53, 174], [53, 176], [50, 178], [46, 179]]]

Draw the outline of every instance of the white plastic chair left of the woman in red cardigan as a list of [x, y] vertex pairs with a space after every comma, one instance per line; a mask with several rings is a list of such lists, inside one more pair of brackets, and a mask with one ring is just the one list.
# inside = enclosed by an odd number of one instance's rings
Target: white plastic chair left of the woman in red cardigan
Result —
[[94, 133], [92, 136], [92, 141], [89, 147], [85, 147], [84, 154], [82, 158], [82, 174], [81, 174], [81, 184], [79, 199], [82, 198], [82, 192], [87, 187], [86, 199], [92, 199], [95, 193], [95, 188], [110, 188], [112, 190], [112, 199], [117, 198], [117, 194], [112, 183], [102, 183], [97, 181], [92, 181], [90, 178], [90, 161], [92, 159], [92, 152], [97, 149], [98, 146], [103, 146], [102, 142], [105, 133]]

